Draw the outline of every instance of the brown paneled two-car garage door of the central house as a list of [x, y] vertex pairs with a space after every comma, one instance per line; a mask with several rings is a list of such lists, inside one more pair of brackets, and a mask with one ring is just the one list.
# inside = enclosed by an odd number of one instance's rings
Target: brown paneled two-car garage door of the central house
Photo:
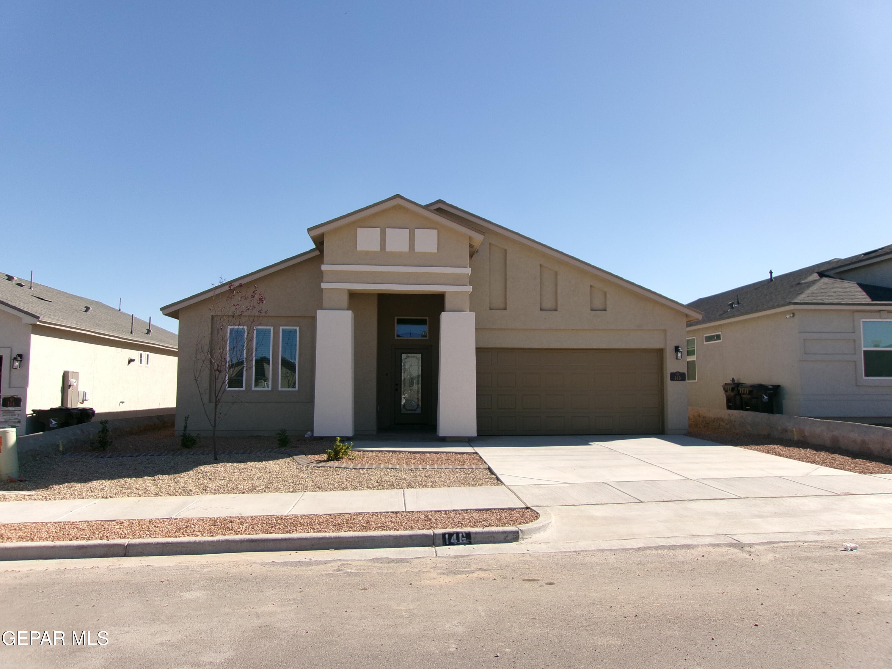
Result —
[[662, 351], [477, 349], [478, 434], [660, 434]]

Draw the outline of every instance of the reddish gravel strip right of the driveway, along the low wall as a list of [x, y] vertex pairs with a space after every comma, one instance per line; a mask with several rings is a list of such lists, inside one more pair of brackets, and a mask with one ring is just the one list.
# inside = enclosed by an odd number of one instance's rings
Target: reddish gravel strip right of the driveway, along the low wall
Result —
[[761, 453], [808, 462], [812, 465], [843, 469], [855, 474], [892, 474], [892, 458], [880, 458], [847, 450], [815, 446], [792, 439], [725, 432], [691, 432], [688, 436], [729, 446], [739, 446], [742, 449], [758, 450]]

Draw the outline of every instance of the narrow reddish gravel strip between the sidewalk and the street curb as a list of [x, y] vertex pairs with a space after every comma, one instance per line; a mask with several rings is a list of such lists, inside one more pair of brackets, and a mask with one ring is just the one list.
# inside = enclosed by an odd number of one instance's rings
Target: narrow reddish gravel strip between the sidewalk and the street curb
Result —
[[539, 514], [531, 508], [493, 508], [473, 511], [394, 511], [310, 516], [224, 516], [91, 520], [70, 523], [8, 523], [0, 524], [0, 541], [98, 541], [219, 537], [235, 534], [473, 529], [532, 523], [538, 517]]

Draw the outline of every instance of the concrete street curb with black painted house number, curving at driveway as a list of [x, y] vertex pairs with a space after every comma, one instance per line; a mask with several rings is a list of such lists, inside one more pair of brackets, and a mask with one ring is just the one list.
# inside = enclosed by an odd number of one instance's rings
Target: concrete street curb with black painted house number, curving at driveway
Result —
[[477, 543], [513, 543], [541, 533], [551, 514], [543, 509], [533, 523], [510, 527], [403, 532], [341, 532], [305, 534], [243, 534], [226, 537], [175, 539], [113, 539], [108, 541], [21, 541], [0, 543], [0, 561], [78, 558], [150, 558], [163, 555], [205, 555], [279, 550], [401, 549], [443, 546], [443, 533], [467, 532]]

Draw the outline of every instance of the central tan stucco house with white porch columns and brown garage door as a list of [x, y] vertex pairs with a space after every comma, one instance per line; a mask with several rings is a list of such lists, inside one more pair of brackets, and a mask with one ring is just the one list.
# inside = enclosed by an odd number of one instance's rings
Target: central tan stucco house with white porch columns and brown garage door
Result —
[[[447, 202], [394, 195], [308, 232], [315, 249], [234, 279], [268, 316], [228, 329], [224, 433], [686, 432], [669, 375], [697, 310]], [[180, 321], [177, 425], [204, 433], [190, 356], [219, 291], [161, 309]]]

